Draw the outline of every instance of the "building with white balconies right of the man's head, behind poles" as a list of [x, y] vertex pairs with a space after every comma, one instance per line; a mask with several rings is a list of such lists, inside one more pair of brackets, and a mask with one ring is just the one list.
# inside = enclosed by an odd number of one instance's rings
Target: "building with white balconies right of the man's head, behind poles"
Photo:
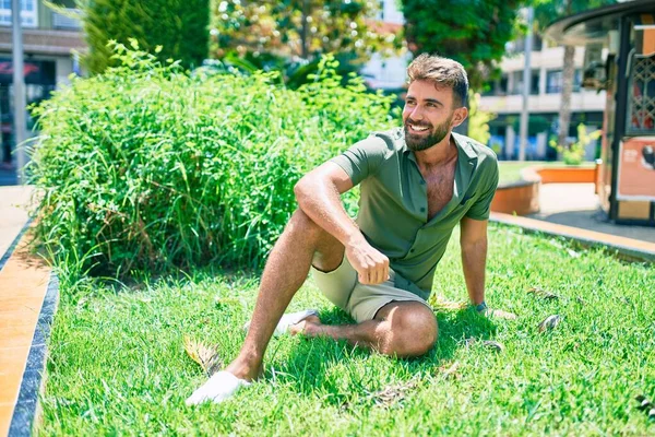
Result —
[[[527, 160], [556, 160], [557, 151], [549, 141], [557, 137], [562, 92], [563, 47], [550, 47], [538, 36], [534, 38], [531, 51], [531, 86], [528, 97], [528, 144]], [[583, 76], [584, 47], [575, 48], [575, 79], [571, 96], [571, 123], [569, 141], [575, 141], [577, 126], [583, 123], [587, 131], [603, 126], [605, 92], [584, 90]], [[481, 91], [480, 108], [496, 114], [489, 123], [490, 146], [503, 160], [519, 156], [519, 131], [523, 107], [523, 71], [525, 66], [523, 40], [508, 45], [508, 55], [500, 64], [500, 79], [487, 83]], [[592, 141], [585, 147], [585, 161], [597, 157], [598, 142]]]

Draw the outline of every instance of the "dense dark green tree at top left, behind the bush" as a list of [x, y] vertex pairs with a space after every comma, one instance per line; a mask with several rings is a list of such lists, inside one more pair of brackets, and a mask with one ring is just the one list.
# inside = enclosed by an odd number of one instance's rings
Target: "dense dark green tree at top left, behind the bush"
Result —
[[200, 66], [207, 56], [209, 0], [75, 0], [83, 20], [88, 54], [84, 66], [102, 73], [116, 64], [109, 40], [128, 44], [134, 38], [157, 58], [172, 58], [186, 68]]

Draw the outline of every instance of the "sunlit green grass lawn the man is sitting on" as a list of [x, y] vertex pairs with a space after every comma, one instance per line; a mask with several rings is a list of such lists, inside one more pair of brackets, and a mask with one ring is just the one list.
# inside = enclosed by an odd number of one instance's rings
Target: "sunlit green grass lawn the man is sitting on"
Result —
[[[457, 234], [455, 234], [457, 235]], [[457, 238], [433, 297], [465, 300]], [[491, 225], [485, 319], [437, 310], [426, 357], [396, 361], [345, 343], [274, 339], [265, 377], [223, 404], [184, 400], [206, 379], [186, 335], [225, 362], [243, 340], [258, 277], [195, 272], [132, 290], [62, 290], [50, 339], [43, 435], [654, 435], [634, 397], [655, 398], [655, 274], [600, 250]], [[538, 286], [559, 299], [527, 293]], [[71, 295], [74, 293], [74, 297]], [[434, 300], [437, 302], [437, 300]], [[290, 309], [347, 321], [308, 282]], [[562, 322], [537, 326], [550, 315]], [[496, 352], [477, 341], [504, 344]], [[453, 370], [454, 371], [446, 371]]]

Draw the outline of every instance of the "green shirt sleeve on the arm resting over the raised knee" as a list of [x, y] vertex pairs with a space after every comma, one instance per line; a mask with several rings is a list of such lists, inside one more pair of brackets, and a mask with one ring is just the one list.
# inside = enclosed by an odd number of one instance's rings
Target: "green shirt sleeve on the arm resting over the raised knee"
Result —
[[333, 157], [330, 162], [342, 167], [353, 181], [353, 186], [356, 186], [367, 177], [378, 173], [388, 152], [389, 147], [385, 141], [371, 135], [355, 143], [350, 149]]

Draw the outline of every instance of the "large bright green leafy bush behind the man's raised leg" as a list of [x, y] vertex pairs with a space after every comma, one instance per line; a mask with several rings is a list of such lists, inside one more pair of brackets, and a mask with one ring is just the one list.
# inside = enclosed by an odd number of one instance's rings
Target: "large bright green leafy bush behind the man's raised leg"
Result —
[[[392, 125], [390, 99], [325, 58], [313, 82], [198, 72], [115, 44], [120, 67], [34, 108], [36, 236], [73, 276], [261, 267], [310, 168]], [[354, 212], [354, 194], [346, 199]]]

